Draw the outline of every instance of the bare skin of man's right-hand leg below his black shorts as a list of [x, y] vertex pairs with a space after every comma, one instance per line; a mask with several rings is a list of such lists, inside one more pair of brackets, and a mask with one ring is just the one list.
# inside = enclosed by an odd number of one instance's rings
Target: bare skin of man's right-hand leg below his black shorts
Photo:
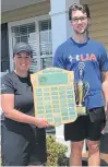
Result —
[[99, 141], [87, 140], [88, 147], [88, 166], [100, 165]]

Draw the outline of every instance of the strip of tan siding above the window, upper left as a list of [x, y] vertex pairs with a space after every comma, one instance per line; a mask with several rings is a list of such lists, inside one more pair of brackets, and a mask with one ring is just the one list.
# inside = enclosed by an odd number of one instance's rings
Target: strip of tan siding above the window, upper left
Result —
[[50, 0], [40, 3], [31, 4], [24, 8], [17, 8], [12, 11], [1, 13], [1, 23], [9, 23], [28, 17], [48, 14], [50, 12]]

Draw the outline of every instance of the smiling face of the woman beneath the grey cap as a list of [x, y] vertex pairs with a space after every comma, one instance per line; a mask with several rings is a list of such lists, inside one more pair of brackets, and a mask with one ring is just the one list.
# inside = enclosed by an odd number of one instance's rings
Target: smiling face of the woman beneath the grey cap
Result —
[[13, 58], [15, 70], [28, 71], [32, 62], [32, 57], [27, 52], [20, 52]]

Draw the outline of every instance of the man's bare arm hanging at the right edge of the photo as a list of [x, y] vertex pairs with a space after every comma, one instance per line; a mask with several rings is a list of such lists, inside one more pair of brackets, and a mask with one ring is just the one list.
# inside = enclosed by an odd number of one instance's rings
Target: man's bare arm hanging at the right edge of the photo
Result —
[[101, 73], [103, 76], [103, 92], [105, 96], [105, 111], [108, 115], [108, 71]]

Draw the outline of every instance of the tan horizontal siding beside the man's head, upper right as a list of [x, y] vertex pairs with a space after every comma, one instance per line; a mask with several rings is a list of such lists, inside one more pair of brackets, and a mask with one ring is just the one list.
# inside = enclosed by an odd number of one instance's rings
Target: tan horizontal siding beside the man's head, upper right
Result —
[[108, 51], [108, 0], [81, 0], [91, 11], [89, 36], [103, 43]]

